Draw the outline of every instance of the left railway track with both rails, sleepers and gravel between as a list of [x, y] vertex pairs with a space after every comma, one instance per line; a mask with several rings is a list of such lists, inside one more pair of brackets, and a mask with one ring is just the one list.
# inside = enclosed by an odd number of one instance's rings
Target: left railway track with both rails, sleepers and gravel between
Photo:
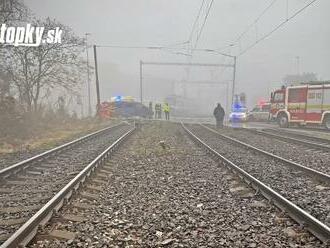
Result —
[[1, 247], [26, 244], [132, 130], [123, 123], [102, 129], [1, 170]]

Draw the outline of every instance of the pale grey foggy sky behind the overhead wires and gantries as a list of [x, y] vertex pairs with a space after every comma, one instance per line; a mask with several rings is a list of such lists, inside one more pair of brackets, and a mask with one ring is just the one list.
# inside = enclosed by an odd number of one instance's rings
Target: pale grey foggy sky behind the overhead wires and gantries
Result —
[[[288, 0], [288, 16], [311, 0]], [[92, 33], [90, 44], [127, 46], [168, 46], [187, 41], [202, 0], [26, 0], [31, 10], [41, 17], [52, 17], [71, 26], [80, 36]], [[205, 3], [210, 3], [206, 0]], [[254, 22], [271, 0], [215, 0], [197, 48], [221, 48], [237, 55], [262, 37], [287, 16], [286, 0], [277, 0], [260, 18], [257, 25], [233, 44]], [[330, 79], [330, 1], [318, 0], [246, 53], [238, 57], [237, 92], [246, 92], [249, 104], [267, 97], [270, 90], [281, 85], [286, 74], [315, 72]], [[201, 16], [206, 14], [205, 9]], [[201, 26], [201, 18], [199, 26]], [[197, 29], [198, 30], [198, 29]], [[196, 30], [196, 31], [197, 31]], [[196, 32], [195, 32], [196, 33]], [[164, 51], [99, 48], [102, 99], [114, 94], [138, 96], [139, 61], [231, 63], [219, 55], [195, 52], [193, 58]], [[92, 50], [90, 50], [92, 55]], [[91, 58], [91, 62], [93, 62]], [[181, 80], [231, 79], [231, 69], [211, 70], [150, 66], [144, 70], [149, 95], [159, 89], [153, 81], [170, 84]], [[94, 80], [94, 79], [93, 79]], [[205, 88], [205, 86], [204, 86]], [[214, 88], [210, 88], [214, 94]], [[207, 89], [203, 89], [204, 91]], [[151, 92], [151, 93], [150, 93]], [[165, 91], [168, 93], [167, 91]], [[157, 92], [159, 93], [159, 92]], [[166, 93], [163, 97], [166, 96]], [[219, 87], [219, 95], [225, 94]], [[156, 94], [161, 97], [161, 94]], [[210, 93], [211, 95], [211, 93]], [[223, 97], [219, 97], [223, 100]]]

